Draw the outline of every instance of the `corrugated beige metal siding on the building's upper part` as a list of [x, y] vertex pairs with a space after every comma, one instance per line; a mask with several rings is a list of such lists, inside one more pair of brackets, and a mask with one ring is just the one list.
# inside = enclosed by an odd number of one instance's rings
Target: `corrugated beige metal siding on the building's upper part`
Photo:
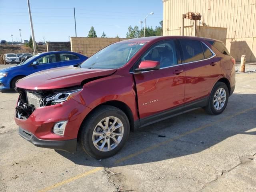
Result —
[[[227, 38], [256, 37], [256, 0], [163, 0], [163, 4], [164, 35], [177, 35], [182, 14], [199, 12], [204, 25], [228, 28]], [[192, 24], [185, 19], [185, 26]]]

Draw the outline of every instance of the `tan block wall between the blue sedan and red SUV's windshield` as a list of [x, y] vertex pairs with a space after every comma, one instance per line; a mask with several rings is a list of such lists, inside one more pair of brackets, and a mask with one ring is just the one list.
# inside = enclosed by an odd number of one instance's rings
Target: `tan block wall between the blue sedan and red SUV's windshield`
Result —
[[85, 56], [92, 56], [102, 48], [126, 38], [87, 38], [71, 37], [71, 51], [82, 52]]

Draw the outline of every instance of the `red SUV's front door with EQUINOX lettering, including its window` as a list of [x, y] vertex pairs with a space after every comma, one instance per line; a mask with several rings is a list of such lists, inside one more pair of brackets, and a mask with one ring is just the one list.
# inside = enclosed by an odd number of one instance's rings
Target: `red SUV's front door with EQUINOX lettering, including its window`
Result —
[[160, 62], [159, 70], [134, 73], [140, 118], [182, 106], [185, 72], [179, 58], [176, 40], [168, 40], [151, 46], [135, 65], [143, 60]]

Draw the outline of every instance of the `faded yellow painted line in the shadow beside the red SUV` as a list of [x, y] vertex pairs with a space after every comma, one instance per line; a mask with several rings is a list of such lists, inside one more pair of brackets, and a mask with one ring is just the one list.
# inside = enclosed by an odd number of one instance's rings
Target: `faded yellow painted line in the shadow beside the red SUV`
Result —
[[160, 142], [160, 143], [158, 143], [158, 144], [155, 144], [155, 145], [152, 145], [152, 146], [150, 146], [150, 147], [148, 147], [148, 148], [145, 148], [145, 149], [143, 149], [143, 150], [140, 150], [140, 151], [138, 151], [138, 152], [136, 152], [136, 153], [133, 153], [133, 154], [130, 154], [130, 155], [126, 156], [126, 157], [123, 157], [123, 158], [121, 158], [121, 159], [119, 159], [119, 160], [116, 160], [114, 164], [115, 164], [115, 165], [116, 165], [116, 164], [119, 164], [119, 163], [121, 163], [121, 162], [123, 162], [123, 161], [125, 161], [125, 160], [128, 160], [128, 159], [130, 159], [130, 158], [133, 158], [133, 157], [135, 157], [135, 156], [137, 156], [137, 155], [140, 155], [140, 154], [142, 154], [142, 153], [148, 152], [148, 151], [153, 150], [153, 149], [155, 149], [155, 148], [158, 148], [158, 147], [160, 147], [160, 146], [162, 146], [162, 145], [164, 145], [164, 144], [167, 144], [167, 143], [172, 142], [172, 141], [174, 141], [174, 140], [178, 140], [179, 138], [182, 138], [182, 137], [184, 137], [184, 136], [186, 136], [186, 135], [192, 134], [192, 133], [194, 133], [194, 132], [198, 132], [199, 130], [202, 130], [202, 129], [207, 128], [207, 127], [210, 127], [210, 126], [213, 126], [213, 125], [215, 125], [215, 124], [217, 124], [217, 123], [219, 123], [219, 122], [226, 121], [226, 120], [228, 120], [228, 119], [230, 119], [230, 118], [232, 118], [232, 117], [234, 117], [234, 116], [238, 116], [238, 115], [240, 115], [240, 114], [246, 113], [246, 112], [248, 112], [248, 111], [250, 111], [250, 110], [253, 110], [253, 109], [256, 109], [256, 107], [248, 108], [248, 109], [243, 110], [243, 111], [241, 111], [241, 112], [238, 112], [238, 113], [236, 113], [236, 114], [234, 114], [234, 115], [230, 115], [230, 116], [224, 117], [224, 118], [222, 118], [222, 119], [220, 119], [220, 120], [217, 120], [217, 121], [215, 121], [214, 123], [206, 124], [206, 125], [200, 126], [200, 127], [198, 127], [198, 128], [192, 129], [192, 130], [190, 130], [190, 131], [184, 132], [183, 134], [180, 134], [180, 135], [178, 135], [178, 136], [176, 136], [176, 137], [170, 138], [170, 139], [168, 139], [168, 140], [165, 140], [165, 141], [163, 141], [163, 142]]

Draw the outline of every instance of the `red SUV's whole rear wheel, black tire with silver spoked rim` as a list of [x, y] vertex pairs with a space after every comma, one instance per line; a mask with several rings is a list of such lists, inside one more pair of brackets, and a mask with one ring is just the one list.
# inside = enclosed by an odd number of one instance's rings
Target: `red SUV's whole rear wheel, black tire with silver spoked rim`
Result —
[[228, 87], [223, 82], [217, 82], [210, 94], [208, 105], [205, 110], [208, 114], [218, 115], [221, 114], [228, 104], [229, 91]]

